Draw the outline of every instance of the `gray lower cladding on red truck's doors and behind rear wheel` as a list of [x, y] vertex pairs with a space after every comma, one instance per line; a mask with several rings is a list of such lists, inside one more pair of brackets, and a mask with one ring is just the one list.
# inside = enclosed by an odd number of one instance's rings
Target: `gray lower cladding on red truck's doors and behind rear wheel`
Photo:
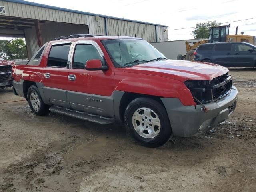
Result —
[[[45, 104], [86, 112], [88, 114], [96, 114], [107, 118], [120, 119], [119, 105], [124, 94], [122, 91], [114, 90], [111, 96], [100, 96], [50, 88], [45, 87], [43, 83], [35, 83]], [[23, 84], [24, 80], [20, 80], [20, 82], [13, 81], [16, 93], [25, 98]]]

